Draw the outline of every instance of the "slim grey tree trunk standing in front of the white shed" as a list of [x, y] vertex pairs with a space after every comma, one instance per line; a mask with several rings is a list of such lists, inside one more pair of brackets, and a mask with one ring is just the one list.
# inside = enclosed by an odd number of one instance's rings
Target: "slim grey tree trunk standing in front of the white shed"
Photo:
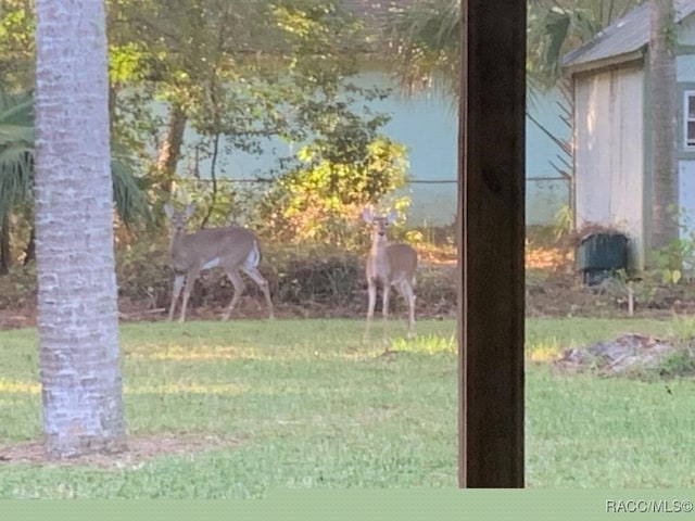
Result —
[[[652, 237], [649, 250], [678, 238], [675, 142], [675, 56], [673, 0], [650, 0], [649, 75], [652, 94]], [[675, 267], [675, 266], [674, 266]]]

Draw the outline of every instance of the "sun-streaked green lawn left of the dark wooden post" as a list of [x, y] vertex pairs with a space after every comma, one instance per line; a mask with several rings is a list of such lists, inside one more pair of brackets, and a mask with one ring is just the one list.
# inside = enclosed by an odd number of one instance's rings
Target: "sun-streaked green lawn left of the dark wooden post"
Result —
[[[376, 325], [375, 325], [376, 326]], [[146, 323], [122, 328], [131, 436], [238, 437], [232, 448], [137, 468], [10, 463], [0, 497], [261, 497], [277, 487], [454, 486], [452, 321], [381, 356], [362, 321]], [[376, 333], [378, 328], [375, 327]], [[0, 444], [40, 436], [36, 333], [0, 332]]]

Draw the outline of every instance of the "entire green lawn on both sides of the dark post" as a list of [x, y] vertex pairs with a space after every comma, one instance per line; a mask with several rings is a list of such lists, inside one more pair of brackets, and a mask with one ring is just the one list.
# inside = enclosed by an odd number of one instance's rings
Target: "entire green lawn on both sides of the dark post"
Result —
[[[376, 325], [375, 325], [376, 326]], [[239, 440], [122, 468], [0, 465], [0, 498], [264, 497], [285, 487], [454, 487], [453, 321], [361, 342], [358, 320], [238, 320], [122, 327], [130, 436]], [[622, 332], [683, 338], [657, 320], [527, 322], [527, 483], [693, 486], [693, 382], [561, 374], [563, 350]], [[375, 327], [372, 333], [379, 331]], [[376, 334], [375, 334], [376, 338]], [[384, 346], [395, 351], [381, 356]], [[36, 331], [0, 331], [0, 445], [40, 439]]]

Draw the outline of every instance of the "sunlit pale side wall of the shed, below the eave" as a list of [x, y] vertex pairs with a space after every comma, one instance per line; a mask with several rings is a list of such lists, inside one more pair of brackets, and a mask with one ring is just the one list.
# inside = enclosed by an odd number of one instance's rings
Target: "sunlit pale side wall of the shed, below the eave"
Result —
[[576, 81], [577, 224], [611, 225], [632, 242], [632, 267], [644, 265], [644, 75], [618, 68]]

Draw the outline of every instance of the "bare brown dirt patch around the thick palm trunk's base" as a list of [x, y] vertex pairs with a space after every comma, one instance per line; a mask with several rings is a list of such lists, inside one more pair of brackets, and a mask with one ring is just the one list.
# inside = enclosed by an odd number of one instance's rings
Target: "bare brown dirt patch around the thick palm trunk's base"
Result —
[[88, 466], [99, 468], [137, 468], [157, 456], [206, 453], [220, 448], [232, 448], [242, 439], [210, 434], [155, 434], [129, 436], [128, 448], [118, 454], [90, 454], [68, 459], [52, 459], [40, 442], [28, 442], [0, 447], [0, 465], [30, 463], [56, 466]]

